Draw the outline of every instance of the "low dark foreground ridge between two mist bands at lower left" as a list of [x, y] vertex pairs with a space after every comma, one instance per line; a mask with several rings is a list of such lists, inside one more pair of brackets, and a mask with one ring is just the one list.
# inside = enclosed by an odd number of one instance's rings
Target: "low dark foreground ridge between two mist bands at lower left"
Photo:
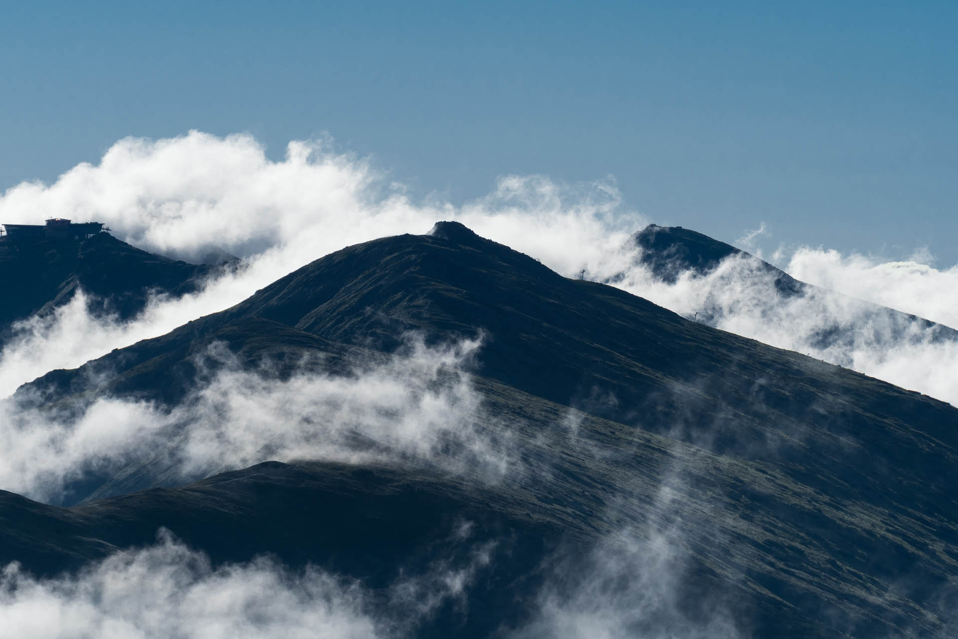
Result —
[[[35, 574], [53, 576], [119, 548], [148, 545], [165, 527], [216, 564], [268, 551], [288, 566], [319, 565], [386, 591], [403, 575], [428, 571], [437, 559], [457, 568], [470, 546], [501, 539], [497, 567], [478, 573], [477, 596], [469, 602], [466, 636], [487, 636], [529, 604], [513, 592], [531, 590], [536, 561], [559, 536], [556, 522], [533, 521], [514, 507], [485, 508], [487, 492], [456, 477], [410, 469], [275, 462], [74, 509], [0, 491], [0, 564], [18, 560]], [[505, 505], [501, 494], [497, 502]], [[475, 537], [468, 543], [456, 538], [464, 522]], [[434, 613], [416, 636], [462, 629], [464, 615], [455, 603]]]

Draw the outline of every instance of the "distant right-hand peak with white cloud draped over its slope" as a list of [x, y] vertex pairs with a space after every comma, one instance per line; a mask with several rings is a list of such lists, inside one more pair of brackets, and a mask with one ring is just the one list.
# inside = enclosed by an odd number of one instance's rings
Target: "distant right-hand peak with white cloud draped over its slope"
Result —
[[958, 402], [958, 331], [800, 282], [689, 229], [650, 225], [629, 245], [635, 267], [611, 284], [697, 322]]

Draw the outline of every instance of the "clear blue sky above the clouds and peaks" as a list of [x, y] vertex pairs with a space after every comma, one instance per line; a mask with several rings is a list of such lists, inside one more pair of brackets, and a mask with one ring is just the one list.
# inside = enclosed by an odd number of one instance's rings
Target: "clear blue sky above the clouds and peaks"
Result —
[[958, 262], [958, 2], [0, 4], [0, 188], [127, 135], [328, 131], [453, 201], [614, 175], [658, 223]]

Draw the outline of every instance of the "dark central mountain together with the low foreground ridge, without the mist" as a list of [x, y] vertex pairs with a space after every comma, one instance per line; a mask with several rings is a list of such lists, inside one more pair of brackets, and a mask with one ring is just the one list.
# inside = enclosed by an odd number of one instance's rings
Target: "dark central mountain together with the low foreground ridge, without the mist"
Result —
[[[16, 400], [62, 411], [105, 396], [175, 411], [231, 367], [281, 383], [361, 377], [356, 362], [408, 358], [411, 333], [433, 346], [482, 339], [466, 377], [482, 398], [472, 433], [502, 453], [500, 475], [447, 466], [435, 451], [366, 462], [358, 453], [382, 443], [358, 437], [353, 465], [273, 464], [175, 488], [190, 479], [175, 451], [152, 450], [86, 474], [65, 502], [81, 505], [6, 493], [0, 560], [51, 574], [164, 526], [215, 560], [271, 552], [386, 587], [423, 570], [446, 538], [438, 531], [461, 520], [505, 555], [486, 564], [468, 605], [450, 603], [419, 634], [539, 628], [543, 601], [588, 607], [568, 591], [577, 583], [621, 605], [641, 589], [661, 594], [668, 609], [626, 615], [627, 634], [711, 636], [729, 618], [739, 636], [947, 632], [955, 408], [562, 278], [455, 222], [333, 253], [234, 308], [41, 377]], [[217, 344], [235, 359], [205, 361]], [[436, 383], [463, 375], [443, 368]], [[175, 442], [196, 422], [170, 427]], [[441, 448], [455, 450], [456, 436]], [[380, 524], [409, 533], [390, 544]], [[614, 560], [589, 564], [597, 549]], [[608, 564], [624, 573], [597, 567]], [[558, 566], [573, 567], [557, 578]]]

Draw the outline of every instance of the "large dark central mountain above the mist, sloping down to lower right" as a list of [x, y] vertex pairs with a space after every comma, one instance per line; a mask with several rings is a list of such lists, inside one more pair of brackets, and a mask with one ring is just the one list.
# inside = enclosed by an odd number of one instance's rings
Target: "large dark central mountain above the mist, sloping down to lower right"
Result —
[[[509, 485], [521, 506], [484, 496], [486, 511], [547, 511], [557, 529], [593, 538], [664, 522], [696, 574], [757, 602], [756, 636], [943, 628], [936, 605], [958, 574], [958, 411], [562, 278], [458, 224], [344, 249], [19, 395], [175, 402], [217, 340], [248, 364], [330, 353], [335, 371], [357, 350], [395, 350], [406, 331], [488, 335], [476, 387], [509, 418], [518, 458], [543, 472]], [[586, 416], [570, 440], [557, 427], [567, 406], [613, 421]], [[678, 496], [662, 502], [664, 487]]]

